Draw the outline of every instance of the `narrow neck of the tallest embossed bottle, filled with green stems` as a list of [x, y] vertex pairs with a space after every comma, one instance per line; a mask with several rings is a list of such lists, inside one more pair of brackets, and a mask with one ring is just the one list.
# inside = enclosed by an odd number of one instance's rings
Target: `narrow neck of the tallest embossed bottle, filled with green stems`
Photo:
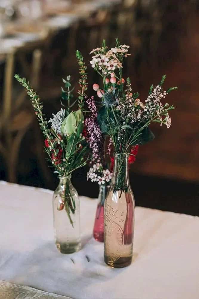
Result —
[[115, 153], [114, 170], [111, 185], [114, 191], [127, 191], [129, 187], [129, 154]]

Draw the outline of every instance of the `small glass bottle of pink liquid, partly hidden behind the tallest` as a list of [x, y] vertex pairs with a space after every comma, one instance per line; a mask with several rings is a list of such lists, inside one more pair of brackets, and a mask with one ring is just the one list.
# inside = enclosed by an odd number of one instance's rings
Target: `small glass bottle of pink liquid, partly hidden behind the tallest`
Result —
[[99, 242], [104, 242], [104, 201], [107, 197], [108, 190], [109, 185], [106, 183], [99, 187], [98, 205], [93, 228], [93, 237]]

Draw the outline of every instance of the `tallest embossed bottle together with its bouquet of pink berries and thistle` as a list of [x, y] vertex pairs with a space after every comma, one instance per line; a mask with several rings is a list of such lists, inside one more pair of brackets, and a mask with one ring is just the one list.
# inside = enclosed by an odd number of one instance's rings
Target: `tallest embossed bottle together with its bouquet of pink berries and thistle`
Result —
[[177, 89], [163, 90], [164, 75], [157, 86], [151, 85], [147, 99], [141, 101], [138, 92], [132, 91], [130, 78], [125, 81], [122, 76], [128, 51], [129, 46], [120, 45], [116, 39], [114, 48], [108, 49], [104, 40], [101, 48], [90, 52], [90, 63], [102, 79], [101, 87], [93, 85], [101, 99], [98, 125], [111, 138], [115, 149], [113, 176], [104, 205], [104, 260], [115, 268], [128, 266], [132, 261], [135, 202], [128, 176], [129, 157], [134, 156], [132, 152], [137, 152], [138, 145], [154, 138], [149, 129], [152, 122], [171, 126], [169, 111], [175, 107], [162, 101]]

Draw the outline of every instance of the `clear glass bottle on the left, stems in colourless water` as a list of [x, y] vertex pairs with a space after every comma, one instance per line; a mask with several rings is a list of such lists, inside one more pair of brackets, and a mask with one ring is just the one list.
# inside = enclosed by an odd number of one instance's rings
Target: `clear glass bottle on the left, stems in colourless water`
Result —
[[53, 194], [55, 244], [61, 253], [81, 248], [79, 196], [70, 179], [71, 175], [59, 177]]

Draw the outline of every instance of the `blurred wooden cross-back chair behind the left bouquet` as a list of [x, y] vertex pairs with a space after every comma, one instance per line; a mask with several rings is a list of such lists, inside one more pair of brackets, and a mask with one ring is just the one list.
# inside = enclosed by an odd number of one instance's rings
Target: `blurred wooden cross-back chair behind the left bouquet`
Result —
[[[16, 51], [13, 51], [7, 54], [6, 58], [0, 126], [0, 152], [4, 158], [4, 163], [7, 166], [7, 178], [10, 182], [17, 182], [17, 164], [21, 142], [24, 138], [24, 135], [31, 126], [34, 126], [36, 121], [30, 103], [29, 105], [24, 104], [25, 98], [27, 96], [26, 92], [21, 92], [16, 98], [13, 95], [13, 92], [15, 93], [13, 89], [13, 77], [16, 55]], [[29, 77], [33, 87], [37, 89], [39, 72], [41, 68], [40, 49], [33, 50], [33, 59], [31, 65], [32, 67]], [[43, 173], [45, 177], [48, 178], [49, 172], [47, 171], [47, 165], [43, 157], [43, 147], [41, 146], [40, 136], [41, 135], [37, 134], [34, 147]]]

